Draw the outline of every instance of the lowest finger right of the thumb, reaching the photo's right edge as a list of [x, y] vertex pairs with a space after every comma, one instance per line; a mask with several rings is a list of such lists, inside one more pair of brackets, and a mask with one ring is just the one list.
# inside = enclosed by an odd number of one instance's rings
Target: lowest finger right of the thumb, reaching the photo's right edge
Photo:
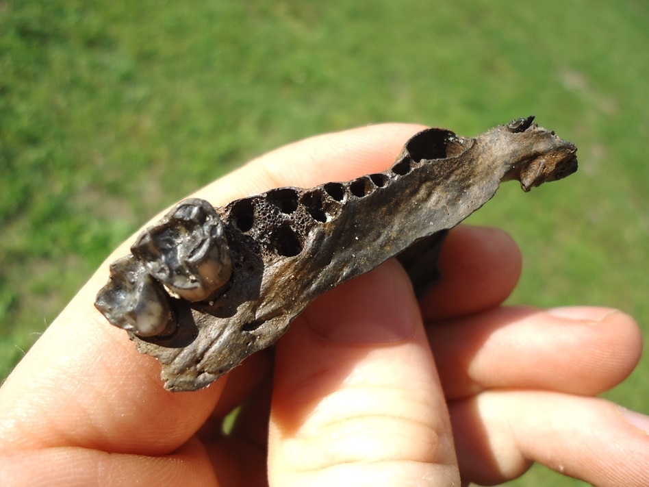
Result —
[[597, 486], [649, 485], [647, 416], [554, 392], [485, 392], [449, 408], [465, 482], [500, 484], [540, 462]]

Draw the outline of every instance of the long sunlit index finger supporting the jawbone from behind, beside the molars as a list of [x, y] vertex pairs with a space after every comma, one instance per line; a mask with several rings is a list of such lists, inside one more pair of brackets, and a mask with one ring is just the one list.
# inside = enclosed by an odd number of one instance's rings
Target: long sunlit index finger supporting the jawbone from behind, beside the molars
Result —
[[[224, 203], [233, 195], [277, 184], [316, 184], [385, 168], [417, 129], [381, 125], [297, 142], [259, 158], [203, 194]], [[129, 244], [110, 260], [127, 253]], [[166, 392], [157, 362], [136, 352], [124, 332], [107, 325], [93, 305], [106, 281], [104, 265], [0, 389], [0, 449], [69, 445], [168, 453], [214, 409], [225, 380], [200, 392]]]

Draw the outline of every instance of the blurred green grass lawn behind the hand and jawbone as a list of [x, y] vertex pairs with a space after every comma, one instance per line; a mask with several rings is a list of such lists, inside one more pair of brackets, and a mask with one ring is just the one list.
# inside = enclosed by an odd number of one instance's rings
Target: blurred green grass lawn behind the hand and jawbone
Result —
[[[649, 3], [0, 0], [0, 379], [166, 205], [292, 140], [382, 121], [474, 135], [535, 114], [580, 170], [504, 185], [512, 303], [649, 338]], [[649, 357], [607, 397], [649, 413]], [[535, 467], [511, 486], [583, 485]]]

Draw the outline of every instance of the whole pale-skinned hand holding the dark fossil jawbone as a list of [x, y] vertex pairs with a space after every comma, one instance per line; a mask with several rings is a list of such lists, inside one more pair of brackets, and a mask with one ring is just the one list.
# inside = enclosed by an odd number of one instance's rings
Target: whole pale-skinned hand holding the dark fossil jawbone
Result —
[[[382, 171], [421, 128], [296, 142], [196, 196], [219, 206]], [[440, 268], [418, 303], [385, 262], [320, 297], [274, 351], [172, 393], [94, 309], [104, 264], [0, 388], [0, 485], [459, 486], [505, 482], [532, 462], [598, 486], [649, 485], [648, 417], [593, 397], [637, 364], [635, 321], [502, 306], [521, 257], [498, 229], [453, 230]]]

